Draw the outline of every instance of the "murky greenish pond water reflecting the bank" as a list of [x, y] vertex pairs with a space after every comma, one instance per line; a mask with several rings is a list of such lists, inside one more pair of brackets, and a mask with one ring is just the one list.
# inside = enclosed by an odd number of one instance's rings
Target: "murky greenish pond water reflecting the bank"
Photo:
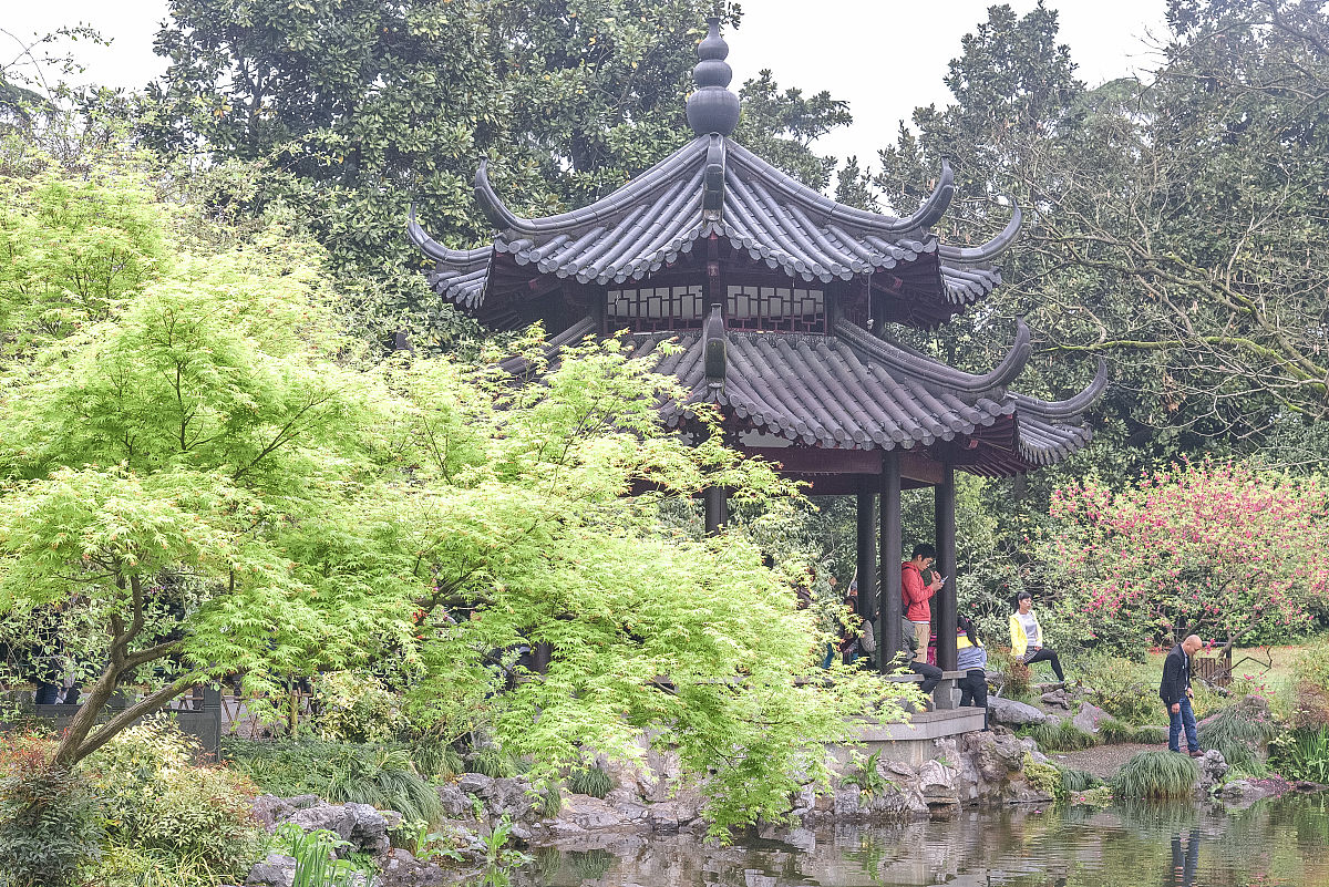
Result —
[[[964, 813], [789, 841], [695, 838], [542, 850], [513, 887], [1329, 887], [1329, 794], [1221, 813], [1191, 805]], [[797, 845], [797, 846], [793, 846]]]

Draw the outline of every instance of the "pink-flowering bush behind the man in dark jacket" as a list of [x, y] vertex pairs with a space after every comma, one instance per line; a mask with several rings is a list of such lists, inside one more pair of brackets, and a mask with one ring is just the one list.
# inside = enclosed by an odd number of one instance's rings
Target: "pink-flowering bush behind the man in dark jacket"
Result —
[[1326, 505], [1318, 479], [1243, 465], [1184, 465], [1120, 493], [1084, 481], [1054, 494], [1038, 562], [1086, 645], [1269, 640], [1325, 612]]

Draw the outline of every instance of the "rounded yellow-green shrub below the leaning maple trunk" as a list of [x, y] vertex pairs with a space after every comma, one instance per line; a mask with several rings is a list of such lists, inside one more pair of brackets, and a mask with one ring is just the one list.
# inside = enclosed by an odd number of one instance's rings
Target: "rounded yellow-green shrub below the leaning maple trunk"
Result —
[[166, 716], [132, 726], [81, 765], [104, 799], [113, 845], [187, 863], [185, 884], [243, 879], [264, 837], [254, 786], [230, 770], [197, 766], [199, 749]]

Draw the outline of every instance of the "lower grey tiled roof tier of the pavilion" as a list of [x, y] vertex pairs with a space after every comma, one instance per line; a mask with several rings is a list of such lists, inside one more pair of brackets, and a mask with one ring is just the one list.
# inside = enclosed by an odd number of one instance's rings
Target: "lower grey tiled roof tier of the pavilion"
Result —
[[[550, 345], [594, 333], [587, 320]], [[661, 349], [664, 341], [676, 348]], [[723, 349], [718, 351], [718, 343]], [[966, 388], [958, 384], [958, 373], [952, 380], [912, 372], [922, 365], [892, 360], [897, 352], [888, 343], [873, 345], [857, 336], [720, 327], [638, 335], [629, 344], [634, 359], [658, 360], [657, 372], [676, 377], [690, 390], [682, 404], [662, 408], [670, 428], [686, 429], [695, 418], [690, 406], [708, 402], [720, 409], [735, 442], [772, 458], [779, 458], [772, 447], [781, 446], [900, 450], [986, 477], [1054, 465], [1086, 446], [1091, 429], [1083, 413], [1107, 382], [1099, 364], [1090, 386], [1067, 401], [1015, 394], [1003, 384]], [[520, 361], [506, 366], [521, 372]], [[837, 471], [832, 463], [828, 470]]]

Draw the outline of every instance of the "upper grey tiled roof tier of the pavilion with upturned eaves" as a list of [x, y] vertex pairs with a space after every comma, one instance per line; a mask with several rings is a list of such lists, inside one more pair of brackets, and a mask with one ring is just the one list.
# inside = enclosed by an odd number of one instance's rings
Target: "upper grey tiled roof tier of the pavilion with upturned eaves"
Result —
[[408, 232], [435, 260], [428, 275], [444, 299], [473, 313], [521, 299], [541, 276], [587, 284], [641, 280], [722, 238], [752, 262], [793, 280], [853, 280], [888, 274], [900, 291], [897, 320], [936, 327], [990, 293], [1001, 272], [990, 262], [1015, 236], [1018, 208], [981, 247], [941, 244], [928, 228], [953, 194], [942, 173], [917, 212], [896, 218], [836, 203], [775, 169], [731, 138], [707, 134], [595, 203], [542, 219], [513, 214], [484, 162], [476, 199], [498, 230], [493, 244], [448, 250], [412, 215]]

